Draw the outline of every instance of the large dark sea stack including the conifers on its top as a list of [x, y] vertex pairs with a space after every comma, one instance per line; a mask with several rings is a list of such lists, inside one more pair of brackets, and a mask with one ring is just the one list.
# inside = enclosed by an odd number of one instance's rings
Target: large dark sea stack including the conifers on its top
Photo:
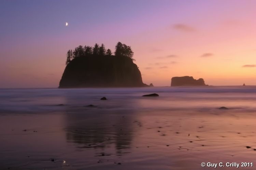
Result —
[[144, 87], [138, 66], [133, 63], [130, 46], [120, 42], [115, 55], [104, 45], [79, 46], [67, 53], [66, 68], [59, 88]]

